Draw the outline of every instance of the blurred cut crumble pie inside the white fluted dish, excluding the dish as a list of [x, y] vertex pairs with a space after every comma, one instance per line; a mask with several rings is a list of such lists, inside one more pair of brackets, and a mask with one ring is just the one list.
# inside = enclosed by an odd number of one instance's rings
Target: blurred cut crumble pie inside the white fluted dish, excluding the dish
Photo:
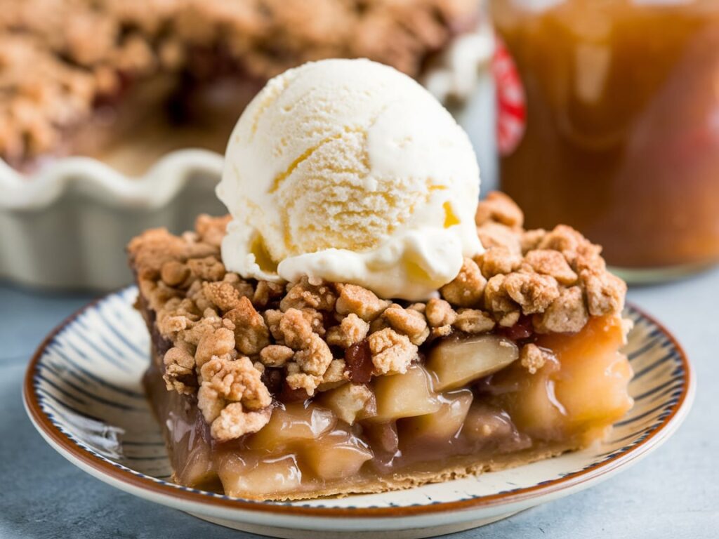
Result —
[[478, 20], [475, 0], [0, 0], [0, 12], [0, 158], [19, 170], [221, 152], [283, 70], [368, 57], [418, 77]]

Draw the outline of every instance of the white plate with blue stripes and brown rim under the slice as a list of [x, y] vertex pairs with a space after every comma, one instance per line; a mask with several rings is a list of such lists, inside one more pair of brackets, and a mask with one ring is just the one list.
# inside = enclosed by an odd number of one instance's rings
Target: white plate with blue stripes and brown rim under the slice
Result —
[[421, 538], [475, 528], [608, 479], [667, 440], [687, 415], [694, 374], [676, 339], [636, 307], [625, 353], [635, 405], [605, 443], [519, 468], [398, 492], [255, 502], [170, 482], [140, 378], [150, 338], [135, 287], [86, 306], [30, 361], [24, 404], [43, 438], [101, 481], [231, 528], [285, 538]]

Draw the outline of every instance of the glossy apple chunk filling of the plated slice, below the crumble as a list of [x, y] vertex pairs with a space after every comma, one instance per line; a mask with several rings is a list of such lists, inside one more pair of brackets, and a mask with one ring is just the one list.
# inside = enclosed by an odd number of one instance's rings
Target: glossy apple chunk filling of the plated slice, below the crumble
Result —
[[438, 339], [403, 374], [275, 402], [261, 430], [226, 442], [210, 436], [196, 397], [165, 389], [157, 356], [145, 383], [180, 484], [255, 499], [378, 492], [602, 438], [632, 405], [624, 334], [607, 315], [578, 333], [536, 335], [543, 359], [533, 364], [498, 333]]

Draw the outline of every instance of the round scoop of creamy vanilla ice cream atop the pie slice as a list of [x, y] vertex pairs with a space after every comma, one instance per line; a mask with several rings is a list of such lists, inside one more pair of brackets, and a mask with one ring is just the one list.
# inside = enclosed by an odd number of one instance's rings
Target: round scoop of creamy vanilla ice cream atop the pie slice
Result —
[[422, 300], [482, 251], [467, 134], [418, 83], [323, 60], [267, 83], [232, 132], [217, 195], [243, 277], [351, 282]]

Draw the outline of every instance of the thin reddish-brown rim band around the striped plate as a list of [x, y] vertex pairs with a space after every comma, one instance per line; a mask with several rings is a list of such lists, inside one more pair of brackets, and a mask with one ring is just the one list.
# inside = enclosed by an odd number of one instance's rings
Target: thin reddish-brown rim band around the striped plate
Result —
[[[134, 487], [137, 489], [144, 489], [158, 494], [162, 497], [173, 497], [186, 502], [195, 502], [211, 507], [224, 507], [226, 509], [236, 510], [247, 510], [247, 511], [260, 511], [267, 513], [275, 513], [278, 515], [292, 515], [292, 516], [311, 516], [311, 517], [408, 517], [414, 515], [429, 515], [433, 513], [459, 511], [459, 510], [472, 510], [486, 507], [497, 507], [499, 505], [505, 505], [509, 502], [521, 502], [526, 499], [536, 497], [539, 493], [551, 494], [559, 490], [573, 487], [583, 482], [593, 479], [597, 476], [604, 475], [616, 469], [620, 464], [624, 464], [628, 461], [636, 459], [645, 453], [646, 449], [654, 446], [655, 443], [661, 441], [664, 436], [667, 435], [666, 428], [672, 419], [677, 415], [678, 411], [682, 408], [684, 401], [687, 400], [687, 396], [690, 393], [692, 384], [694, 381], [694, 373], [692, 367], [687, 359], [687, 354], [679, 344], [677, 338], [670, 333], [663, 324], [656, 321], [655, 318], [648, 315], [644, 310], [637, 308], [635, 305], [630, 303], [628, 307], [635, 310], [637, 313], [642, 315], [644, 318], [653, 323], [661, 333], [666, 336], [672, 345], [677, 350], [679, 358], [682, 361], [682, 367], [684, 369], [685, 383], [682, 387], [682, 393], [679, 395], [677, 402], [672, 407], [671, 412], [665, 418], [661, 420], [661, 423], [649, 433], [644, 440], [637, 443], [636, 446], [632, 446], [624, 451], [620, 451], [616, 455], [606, 459], [605, 461], [590, 466], [587, 469], [573, 472], [566, 476], [560, 477], [559, 479], [552, 479], [549, 482], [543, 484], [537, 484], [533, 487], [526, 487], [522, 489], [516, 489], [508, 492], [500, 492], [498, 494], [489, 494], [487, 496], [475, 497], [470, 499], [462, 499], [457, 502], [436, 502], [430, 505], [408, 505], [405, 507], [306, 507], [296, 505], [280, 505], [275, 502], [257, 502], [252, 500], [245, 500], [240, 498], [229, 498], [229, 497], [213, 497], [208, 494], [204, 494], [201, 491], [194, 491], [189, 487], [188, 489], [173, 487], [170, 484], [163, 484], [149, 479], [147, 476], [138, 476], [133, 474], [126, 469], [120, 469], [109, 462], [100, 459], [93, 453], [90, 453], [85, 448], [78, 446], [74, 441], [70, 440], [65, 434], [60, 432], [47, 415], [40, 408], [39, 402], [37, 402], [37, 395], [35, 394], [35, 388], [32, 384], [32, 379], [35, 375], [35, 368], [37, 367], [40, 357], [44, 354], [48, 344], [52, 341], [55, 336], [63, 331], [63, 329], [70, 323], [75, 321], [86, 309], [93, 307], [97, 303], [100, 303], [105, 298], [111, 295], [116, 295], [122, 290], [116, 290], [108, 295], [104, 295], [101, 298], [93, 300], [91, 303], [84, 305], [75, 311], [75, 313], [65, 318], [50, 334], [45, 337], [37, 351], [30, 360], [27, 371], [25, 372], [24, 384], [23, 384], [23, 400], [27, 407], [27, 412], [35, 422], [37, 427], [41, 428], [43, 433], [50, 438], [57, 446], [63, 448], [64, 451], [70, 453], [75, 459], [81, 461], [86, 466], [100, 471], [103, 474], [111, 476], [116, 481], [126, 484], [128, 487]], [[644, 451], [640, 451], [644, 449]], [[63, 455], [65, 456], [65, 455]], [[181, 486], [180, 486], [181, 487]]]

